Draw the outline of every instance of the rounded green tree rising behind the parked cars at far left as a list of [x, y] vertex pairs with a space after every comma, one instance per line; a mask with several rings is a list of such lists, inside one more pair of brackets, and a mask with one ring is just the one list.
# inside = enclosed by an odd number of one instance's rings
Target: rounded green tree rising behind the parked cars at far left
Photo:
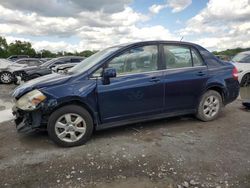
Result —
[[10, 55], [29, 55], [30, 57], [36, 57], [36, 51], [32, 48], [30, 42], [16, 40], [14, 43], [10, 43], [8, 47]]

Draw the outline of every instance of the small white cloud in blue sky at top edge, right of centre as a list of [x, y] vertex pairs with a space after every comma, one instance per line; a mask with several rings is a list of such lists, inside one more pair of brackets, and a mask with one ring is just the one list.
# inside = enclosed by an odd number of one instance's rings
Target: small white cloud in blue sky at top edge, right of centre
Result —
[[192, 4], [192, 0], [167, 0], [165, 4], [153, 4], [149, 7], [152, 14], [158, 14], [164, 8], [171, 8], [173, 13], [181, 12]]

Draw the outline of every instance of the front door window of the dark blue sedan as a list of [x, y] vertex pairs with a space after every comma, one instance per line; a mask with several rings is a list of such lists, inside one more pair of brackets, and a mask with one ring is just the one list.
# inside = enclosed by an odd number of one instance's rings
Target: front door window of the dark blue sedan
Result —
[[108, 67], [116, 69], [117, 75], [157, 70], [158, 48], [156, 45], [132, 48], [112, 59]]

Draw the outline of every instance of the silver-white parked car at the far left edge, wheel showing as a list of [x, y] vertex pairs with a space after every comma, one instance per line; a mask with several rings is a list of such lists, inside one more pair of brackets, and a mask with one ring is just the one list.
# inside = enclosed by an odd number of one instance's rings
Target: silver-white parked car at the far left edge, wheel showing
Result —
[[23, 68], [34, 68], [41, 63], [39, 59], [35, 58], [24, 58], [15, 62], [5, 60], [4, 63], [0, 65], [0, 82], [10, 84], [15, 80], [14, 72]]

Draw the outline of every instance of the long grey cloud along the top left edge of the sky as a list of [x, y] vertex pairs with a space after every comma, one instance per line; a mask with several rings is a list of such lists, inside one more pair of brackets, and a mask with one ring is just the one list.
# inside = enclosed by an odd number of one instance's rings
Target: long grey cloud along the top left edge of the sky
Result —
[[8, 9], [36, 12], [43, 16], [68, 17], [82, 11], [115, 13], [123, 10], [132, 0], [7, 0], [1, 5]]

